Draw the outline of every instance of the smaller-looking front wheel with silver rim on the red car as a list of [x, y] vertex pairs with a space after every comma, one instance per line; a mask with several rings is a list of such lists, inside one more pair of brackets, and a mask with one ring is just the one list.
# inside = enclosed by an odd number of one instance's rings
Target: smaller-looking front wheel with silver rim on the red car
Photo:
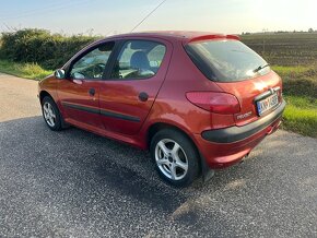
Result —
[[59, 109], [49, 96], [46, 96], [42, 100], [42, 114], [47, 127], [52, 131], [62, 130], [62, 117]]

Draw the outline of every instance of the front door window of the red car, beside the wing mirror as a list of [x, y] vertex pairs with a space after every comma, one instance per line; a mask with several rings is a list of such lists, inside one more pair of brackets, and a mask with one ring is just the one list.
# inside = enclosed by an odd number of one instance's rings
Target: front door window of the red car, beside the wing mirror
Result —
[[106, 43], [77, 60], [70, 71], [72, 79], [102, 79], [115, 43]]

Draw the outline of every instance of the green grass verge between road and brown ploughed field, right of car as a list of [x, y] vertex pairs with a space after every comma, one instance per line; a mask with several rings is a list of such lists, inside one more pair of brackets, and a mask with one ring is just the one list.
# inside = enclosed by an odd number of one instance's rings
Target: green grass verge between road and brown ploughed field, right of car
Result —
[[283, 129], [317, 138], [317, 67], [273, 66], [283, 79], [283, 94], [287, 103]]

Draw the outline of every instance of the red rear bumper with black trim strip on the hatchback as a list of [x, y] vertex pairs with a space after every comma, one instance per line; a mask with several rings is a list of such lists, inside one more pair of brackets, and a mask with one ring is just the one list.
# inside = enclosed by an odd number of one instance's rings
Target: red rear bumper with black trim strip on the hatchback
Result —
[[210, 168], [223, 168], [239, 162], [266, 135], [273, 133], [280, 127], [285, 105], [283, 100], [270, 115], [243, 127], [196, 134], [196, 143], [206, 164]]

